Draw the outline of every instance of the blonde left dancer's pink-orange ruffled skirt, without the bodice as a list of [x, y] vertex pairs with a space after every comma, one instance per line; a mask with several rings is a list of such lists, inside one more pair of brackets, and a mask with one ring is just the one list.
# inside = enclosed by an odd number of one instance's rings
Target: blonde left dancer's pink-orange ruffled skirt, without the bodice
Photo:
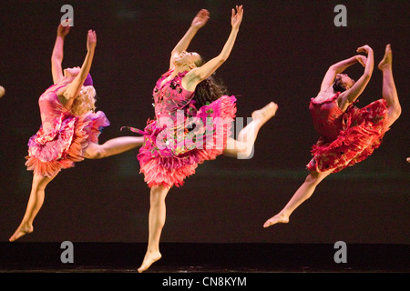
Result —
[[109, 125], [102, 111], [87, 112], [80, 116], [63, 113], [54, 131], [45, 133], [41, 127], [28, 141], [27, 170], [35, 175], [56, 176], [61, 169], [75, 166], [84, 160], [88, 143], [97, 143], [103, 127]]

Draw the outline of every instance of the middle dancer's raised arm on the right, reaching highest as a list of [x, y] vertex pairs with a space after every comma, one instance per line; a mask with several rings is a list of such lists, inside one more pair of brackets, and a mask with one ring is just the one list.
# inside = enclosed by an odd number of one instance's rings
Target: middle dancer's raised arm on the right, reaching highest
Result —
[[231, 15], [231, 34], [228, 37], [227, 42], [222, 48], [220, 55], [212, 58], [206, 64], [201, 65], [200, 67], [194, 68], [187, 74], [186, 88], [188, 90], [194, 90], [196, 85], [201, 81], [212, 75], [219, 67], [222, 65], [228, 57], [231, 55], [231, 50], [235, 44], [236, 36], [239, 32], [239, 27], [241, 25], [243, 17], [243, 8], [242, 6], [236, 6], [235, 9], [232, 9]]

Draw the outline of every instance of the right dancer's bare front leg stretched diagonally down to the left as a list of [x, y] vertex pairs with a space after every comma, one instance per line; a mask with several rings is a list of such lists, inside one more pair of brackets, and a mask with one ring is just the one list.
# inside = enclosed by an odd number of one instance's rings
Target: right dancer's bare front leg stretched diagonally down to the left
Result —
[[309, 175], [306, 177], [302, 186], [300, 186], [299, 189], [295, 192], [295, 194], [292, 196], [288, 204], [284, 206], [284, 208], [281, 210], [280, 213], [268, 219], [263, 225], [263, 227], [269, 227], [269, 226], [272, 226], [278, 223], [283, 223], [283, 224], [288, 223], [289, 216], [291, 216], [292, 212], [297, 207], [301, 206], [301, 204], [304, 201], [309, 199], [309, 197], [313, 195], [313, 192], [316, 186], [318, 186], [319, 183], [321, 183], [323, 179], [326, 176], [329, 176], [332, 172], [333, 170], [322, 172], [322, 173], [318, 173], [316, 171], [309, 173]]

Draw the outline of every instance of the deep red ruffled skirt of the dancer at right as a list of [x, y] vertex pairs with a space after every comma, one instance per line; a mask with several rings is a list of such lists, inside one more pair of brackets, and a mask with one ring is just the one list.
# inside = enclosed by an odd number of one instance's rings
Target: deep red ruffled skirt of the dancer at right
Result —
[[333, 141], [320, 137], [313, 146], [313, 159], [307, 165], [309, 171], [337, 173], [347, 166], [354, 166], [372, 155], [382, 144], [387, 106], [384, 99], [374, 101], [364, 108], [352, 106], [343, 115], [343, 130]]

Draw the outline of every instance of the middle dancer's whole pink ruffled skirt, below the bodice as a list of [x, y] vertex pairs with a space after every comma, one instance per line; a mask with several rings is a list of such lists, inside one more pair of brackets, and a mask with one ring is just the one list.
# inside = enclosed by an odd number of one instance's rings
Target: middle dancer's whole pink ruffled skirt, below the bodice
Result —
[[198, 165], [220, 156], [231, 135], [235, 102], [234, 96], [221, 96], [200, 107], [195, 118], [186, 118], [184, 125], [177, 123], [173, 128], [164, 129], [157, 120], [149, 121], [139, 132], [145, 142], [138, 154], [140, 173], [148, 186], [182, 186]]

